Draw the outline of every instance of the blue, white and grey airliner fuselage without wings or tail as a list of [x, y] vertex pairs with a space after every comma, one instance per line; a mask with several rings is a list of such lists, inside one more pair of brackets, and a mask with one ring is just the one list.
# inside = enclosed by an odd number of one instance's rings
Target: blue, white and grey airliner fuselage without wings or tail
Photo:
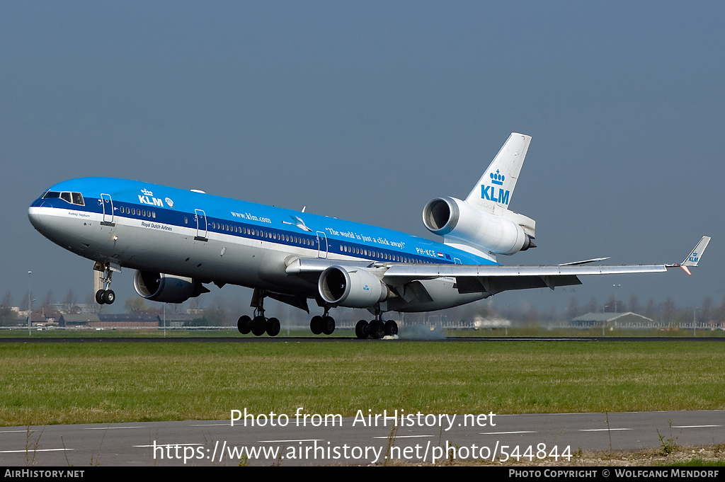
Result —
[[[96, 262], [310, 298], [316, 283], [287, 273], [294, 259], [493, 264], [395, 230], [134, 180], [67, 180], [33, 201], [28, 217], [46, 238]], [[432, 304], [397, 300], [388, 309], [441, 309], [482, 297], [441, 282], [450, 288]]]

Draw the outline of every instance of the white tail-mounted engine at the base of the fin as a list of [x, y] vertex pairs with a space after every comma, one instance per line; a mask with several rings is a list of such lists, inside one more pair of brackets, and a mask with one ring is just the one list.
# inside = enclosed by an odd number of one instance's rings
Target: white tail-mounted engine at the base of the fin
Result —
[[[529, 220], [513, 212], [510, 217]], [[423, 224], [431, 233], [495, 254], [514, 254], [536, 246], [531, 236], [513, 220], [481, 211], [452, 197], [428, 201], [423, 208]]]

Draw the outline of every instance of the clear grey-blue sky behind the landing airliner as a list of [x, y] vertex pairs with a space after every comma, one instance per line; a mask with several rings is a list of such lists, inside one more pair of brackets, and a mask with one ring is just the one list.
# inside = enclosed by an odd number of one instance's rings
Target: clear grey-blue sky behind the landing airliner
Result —
[[[718, 2], [0, 3], [0, 292], [91, 289], [92, 262], [33, 230], [47, 187], [87, 175], [199, 188], [420, 236], [513, 132], [510, 209], [539, 265], [610, 256], [684, 273], [585, 278], [586, 303], [719, 303], [725, 7]], [[114, 278], [123, 308], [131, 273]], [[249, 292], [222, 294], [248, 304]], [[82, 298], [83, 296], [79, 296]], [[537, 302], [543, 290], [494, 301]], [[500, 300], [500, 301], [498, 301]]]

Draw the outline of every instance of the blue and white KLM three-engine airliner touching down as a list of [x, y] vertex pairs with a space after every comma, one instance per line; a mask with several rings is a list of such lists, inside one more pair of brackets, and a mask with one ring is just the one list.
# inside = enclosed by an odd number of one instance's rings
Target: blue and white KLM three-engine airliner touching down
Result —
[[579, 275], [657, 273], [697, 266], [710, 238], [682, 263], [597, 266], [503, 266], [501, 254], [534, 248], [536, 223], [508, 209], [531, 138], [512, 133], [465, 200], [432, 199], [423, 224], [443, 243], [394, 230], [184, 191], [135, 180], [82, 178], [51, 187], [28, 209], [43, 236], [102, 271], [96, 302], [111, 304], [111, 276], [136, 270], [136, 292], [156, 302], [183, 303], [208, 292], [206, 283], [254, 288], [254, 316], [239, 317], [241, 333], [280, 331], [266, 317], [270, 297], [322, 316], [312, 333], [331, 334], [334, 307], [366, 308], [358, 338], [397, 334], [386, 312], [425, 312], [474, 302], [506, 290], [581, 284]]

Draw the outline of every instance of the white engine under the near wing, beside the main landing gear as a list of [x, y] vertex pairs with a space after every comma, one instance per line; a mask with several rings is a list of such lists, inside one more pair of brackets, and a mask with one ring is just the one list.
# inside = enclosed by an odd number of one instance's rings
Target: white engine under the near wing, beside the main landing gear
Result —
[[389, 295], [386, 284], [362, 267], [328, 267], [320, 275], [318, 289], [326, 302], [348, 308], [372, 307]]

